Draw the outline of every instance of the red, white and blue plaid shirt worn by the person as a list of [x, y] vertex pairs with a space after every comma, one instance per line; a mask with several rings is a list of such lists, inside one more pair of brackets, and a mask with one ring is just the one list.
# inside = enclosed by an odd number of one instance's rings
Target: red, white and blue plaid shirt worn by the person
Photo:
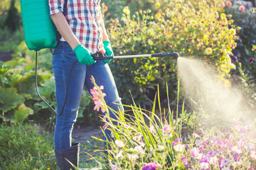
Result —
[[[50, 15], [63, 12], [64, 3], [65, 0], [49, 0]], [[65, 14], [75, 36], [84, 47], [92, 52], [104, 50], [100, 10], [100, 0], [68, 0]]]

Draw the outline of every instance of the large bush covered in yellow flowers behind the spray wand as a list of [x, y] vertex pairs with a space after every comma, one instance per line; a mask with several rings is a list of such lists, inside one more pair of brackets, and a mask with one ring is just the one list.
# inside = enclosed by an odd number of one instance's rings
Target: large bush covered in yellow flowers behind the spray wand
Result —
[[[147, 0], [151, 9], [131, 13], [124, 7], [122, 18], [110, 19], [107, 30], [115, 55], [178, 52], [213, 64], [229, 77], [235, 65], [230, 53], [236, 47], [232, 16], [223, 13], [222, 0]], [[121, 94], [141, 92], [134, 98], [150, 102], [156, 84], [176, 87], [176, 64], [171, 58], [115, 60], [111, 64]], [[127, 84], [129, 82], [129, 84]], [[153, 93], [154, 94], [154, 93]], [[140, 98], [140, 99], [139, 99]]]

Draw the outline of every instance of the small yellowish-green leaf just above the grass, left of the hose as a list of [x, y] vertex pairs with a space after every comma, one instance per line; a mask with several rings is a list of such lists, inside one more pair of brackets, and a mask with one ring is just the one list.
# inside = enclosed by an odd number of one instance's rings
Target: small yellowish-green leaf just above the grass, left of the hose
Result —
[[14, 120], [17, 123], [23, 123], [23, 120], [27, 118], [28, 115], [33, 115], [33, 110], [26, 107], [23, 103], [18, 106], [18, 109], [14, 112]]

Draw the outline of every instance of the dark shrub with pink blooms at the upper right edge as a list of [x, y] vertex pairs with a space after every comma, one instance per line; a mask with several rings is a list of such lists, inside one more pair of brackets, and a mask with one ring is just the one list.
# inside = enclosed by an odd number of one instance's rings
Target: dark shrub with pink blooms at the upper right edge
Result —
[[256, 79], [256, 51], [253, 47], [256, 45], [256, 15], [255, 9], [247, 8], [246, 11], [240, 11], [237, 4], [233, 6], [226, 6], [225, 13], [231, 14], [234, 20], [235, 26], [240, 27], [238, 33], [239, 39], [237, 42], [237, 47], [233, 52], [233, 62], [238, 65], [241, 63], [243, 72], [249, 79], [245, 79], [247, 84], [254, 85]]

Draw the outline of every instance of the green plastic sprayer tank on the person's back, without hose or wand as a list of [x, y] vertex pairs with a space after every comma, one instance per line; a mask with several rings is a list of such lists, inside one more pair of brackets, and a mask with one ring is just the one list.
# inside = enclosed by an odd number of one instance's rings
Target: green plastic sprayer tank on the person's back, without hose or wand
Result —
[[29, 50], [56, 47], [56, 31], [50, 19], [48, 0], [20, 0], [26, 45]]

